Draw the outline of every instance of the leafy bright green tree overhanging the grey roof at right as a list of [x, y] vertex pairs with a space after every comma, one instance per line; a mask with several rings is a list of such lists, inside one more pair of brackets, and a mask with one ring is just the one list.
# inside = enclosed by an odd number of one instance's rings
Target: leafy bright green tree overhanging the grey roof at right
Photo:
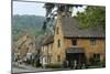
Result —
[[106, 8], [105, 7], [87, 7], [87, 9], [77, 13], [77, 19], [80, 21], [80, 28], [106, 28]]

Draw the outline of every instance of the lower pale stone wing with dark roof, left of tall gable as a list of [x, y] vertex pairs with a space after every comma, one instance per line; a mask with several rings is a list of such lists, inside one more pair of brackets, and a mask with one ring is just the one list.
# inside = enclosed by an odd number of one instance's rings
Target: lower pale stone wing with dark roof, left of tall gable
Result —
[[45, 36], [41, 46], [41, 56], [40, 62], [42, 65], [52, 63], [52, 54], [53, 54], [53, 35]]

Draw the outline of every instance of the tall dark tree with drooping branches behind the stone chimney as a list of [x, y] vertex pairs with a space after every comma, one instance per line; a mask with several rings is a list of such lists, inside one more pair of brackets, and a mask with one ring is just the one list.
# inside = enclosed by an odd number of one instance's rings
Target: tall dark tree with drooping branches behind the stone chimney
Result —
[[[73, 12], [73, 7], [82, 7], [81, 4], [64, 4], [64, 3], [45, 3], [44, 8], [46, 10], [46, 27], [47, 28], [47, 23], [52, 22], [53, 25], [53, 21], [55, 20], [55, 17], [58, 17], [58, 14], [65, 12], [66, 15], [72, 17], [72, 12]], [[56, 10], [54, 10], [54, 8], [56, 8]], [[45, 24], [44, 24], [45, 25]], [[54, 28], [53, 28], [54, 29]]]

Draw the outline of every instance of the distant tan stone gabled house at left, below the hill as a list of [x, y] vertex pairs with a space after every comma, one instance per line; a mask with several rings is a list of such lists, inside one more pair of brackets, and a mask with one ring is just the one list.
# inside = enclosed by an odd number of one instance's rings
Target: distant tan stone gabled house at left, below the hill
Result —
[[16, 53], [18, 53], [18, 60], [25, 60], [30, 57], [32, 53], [35, 52], [35, 38], [25, 34], [16, 42]]

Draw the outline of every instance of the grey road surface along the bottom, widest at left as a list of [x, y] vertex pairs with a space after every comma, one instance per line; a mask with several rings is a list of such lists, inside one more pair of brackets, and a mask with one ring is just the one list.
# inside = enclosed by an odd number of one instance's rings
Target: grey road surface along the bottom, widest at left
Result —
[[35, 72], [50, 72], [50, 71], [64, 71], [68, 68], [42, 68], [32, 65], [12, 63], [12, 73], [35, 73]]

